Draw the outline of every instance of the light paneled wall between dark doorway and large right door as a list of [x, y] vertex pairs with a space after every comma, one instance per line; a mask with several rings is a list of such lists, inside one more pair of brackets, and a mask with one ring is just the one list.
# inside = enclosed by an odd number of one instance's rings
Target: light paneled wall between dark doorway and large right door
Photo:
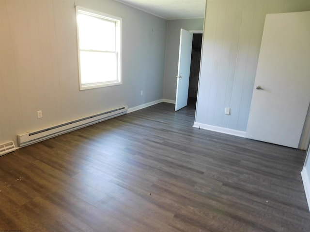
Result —
[[246, 131], [265, 15], [307, 10], [310, 0], [207, 0], [195, 123]]

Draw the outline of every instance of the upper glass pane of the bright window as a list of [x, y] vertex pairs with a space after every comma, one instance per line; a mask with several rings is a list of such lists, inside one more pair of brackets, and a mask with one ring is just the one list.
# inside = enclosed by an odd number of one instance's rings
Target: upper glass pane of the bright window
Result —
[[115, 22], [78, 14], [79, 49], [115, 51]]

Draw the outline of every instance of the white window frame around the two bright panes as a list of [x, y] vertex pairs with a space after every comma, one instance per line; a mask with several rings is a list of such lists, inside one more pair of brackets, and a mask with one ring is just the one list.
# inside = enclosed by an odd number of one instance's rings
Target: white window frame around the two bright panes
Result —
[[[113, 21], [116, 25], [116, 54], [117, 54], [117, 80], [116, 81], [107, 81], [107, 82], [97, 82], [97, 83], [88, 83], [82, 84], [81, 82], [81, 63], [80, 63], [80, 51], [79, 48], [79, 31], [78, 31], [78, 20], [77, 20], [77, 37], [78, 37], [78, 77], [79, 77], [79, 89], [86, 90], [92, 88], [108, 87], [122, 85], [122, 18], [113, 16], [110, 14], [105, 14], [102, 12], [90, 10], [84, 7], [76, 6], [76, 16], [78, 14], [87, 14], [93, 17], [103, 18], [105, 20]], [[84, 51], [84, 50], [83, 50]], [[93, 50], [89, 50], [93, 51]], [[93, 51], [97, 52], [97, 51]], [[108, 52], [108, 51], [103, 51]]]

